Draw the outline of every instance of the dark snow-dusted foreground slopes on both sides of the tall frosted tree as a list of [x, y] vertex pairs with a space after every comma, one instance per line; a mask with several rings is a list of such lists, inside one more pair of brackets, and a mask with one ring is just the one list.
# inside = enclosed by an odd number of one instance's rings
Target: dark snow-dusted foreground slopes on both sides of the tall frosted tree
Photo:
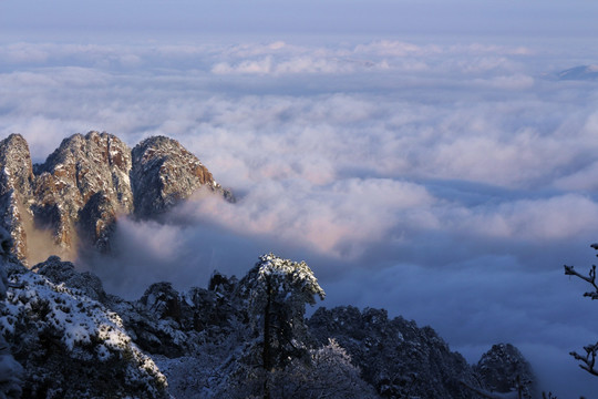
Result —
[[[157, 283], [127, 301], [58, 257], [32, 270], [14, 257], [2, 267], [9, 289], [0, 332], [25, 370], [23, 397], [250, 397], [246, 382], [261, 368], [248, 277], [216, 273], [208, 288], [184, 293]], [[306, 321], [307, 335], [295, 345], [311, 366], [292, 360], [272, 372], [275, 398], [535, 393], [529, 365], [511, 345], [494, 346], [470, 366], [432, 328], [382, 309], [320, 308]]]

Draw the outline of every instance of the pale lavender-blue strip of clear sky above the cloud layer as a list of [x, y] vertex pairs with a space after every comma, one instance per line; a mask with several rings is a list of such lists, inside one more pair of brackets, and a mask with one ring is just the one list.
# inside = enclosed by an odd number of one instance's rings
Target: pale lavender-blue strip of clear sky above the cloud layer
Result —
[[205, 33], [596, 34], [592, 1], [10, 1], [3, 30]]

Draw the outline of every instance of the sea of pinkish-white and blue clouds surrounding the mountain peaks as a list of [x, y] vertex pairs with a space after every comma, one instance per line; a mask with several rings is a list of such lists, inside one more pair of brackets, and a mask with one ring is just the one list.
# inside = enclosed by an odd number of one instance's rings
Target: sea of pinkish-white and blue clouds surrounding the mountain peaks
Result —
[[513, 342], [546, 389], [592, 397], [567, 354], [596, 341], [597, 305], [563, 273], [598, 241], [598, 83], [555, 78], [591, 62], [577, 48], [0, 43], [0, 132], [34, 162], [78, 132], [168, 135], [233, 190], [167, 223], [121, 219], [116, 258], [85, 264], [113, 293], [205, 286], [275, 252], [308, 262], [327, 307], [384, 307], [470, 361]]

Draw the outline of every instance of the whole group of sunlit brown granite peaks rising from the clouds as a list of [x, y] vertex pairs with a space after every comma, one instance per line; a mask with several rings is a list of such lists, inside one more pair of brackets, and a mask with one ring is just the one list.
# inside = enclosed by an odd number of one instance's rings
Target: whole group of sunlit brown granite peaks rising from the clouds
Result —
[[33, 235], [62, 254], [80, 244], [107, 250], [120, 215], [154, 217], [200, 187], [233, 200], [195, 155], [168, 137], [131, 150], [109, 133], [75, 134], [40, 165], [32, 165], [21, 135], [0, 142], [0, 223], [20, 259], [28, 257]]

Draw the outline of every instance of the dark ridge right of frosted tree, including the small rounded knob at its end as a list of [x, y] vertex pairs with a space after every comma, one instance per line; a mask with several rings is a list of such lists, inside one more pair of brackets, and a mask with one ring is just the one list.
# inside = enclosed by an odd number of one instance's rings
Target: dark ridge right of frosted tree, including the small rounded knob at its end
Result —
[[343, 347], [382, 398], [478, 398], [520, 387], [522, 398], [535, 392], [529, 364], [512, 345], [494, 346], [472, 367], [431, 327], [391, 319], [384, 309], [321, 307], [308, 326], [320, 345], [333, 338]]

